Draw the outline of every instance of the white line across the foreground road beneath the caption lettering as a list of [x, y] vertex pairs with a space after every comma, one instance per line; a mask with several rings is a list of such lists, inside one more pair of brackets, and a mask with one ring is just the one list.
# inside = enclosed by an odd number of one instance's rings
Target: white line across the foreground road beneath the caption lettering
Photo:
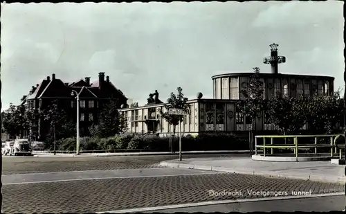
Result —
[[197, 202], [190, 204], [174, 204], [174, 205], [166, 205], [166, 206], [154, 206], [154, 207], [144, 207], [144, 208], [130, 208], [123, 209], [117, 211], [105, 211], [105, 212], [97, 212], [97, 213], [135, 213], [135, 212], [145, 212], [145, 211], [159, 211], [165, 209], [172, 208], [188, 208], [194, 206], [208, 206], [208, 205], [217, 205], [217, 204], [235, 204], [235, 203], [244, 203], [244, 202], [263, 202], [263, 201], [274, 201], [274, 200], [283, 200], [283, 199], [304, 199], [304, 198], [312, 198], [312, 197], [327, 197], [327, 196], [339, 196], [345, 195], [345, 193], [324, 193], [324, 194], [316, 194], [309, 196], [281, 196], [281, 197], [265, 197], [259, 199], [233, 199], [233, 200], [221, 200], [221, 201], [210, 201], [210, 202]]

